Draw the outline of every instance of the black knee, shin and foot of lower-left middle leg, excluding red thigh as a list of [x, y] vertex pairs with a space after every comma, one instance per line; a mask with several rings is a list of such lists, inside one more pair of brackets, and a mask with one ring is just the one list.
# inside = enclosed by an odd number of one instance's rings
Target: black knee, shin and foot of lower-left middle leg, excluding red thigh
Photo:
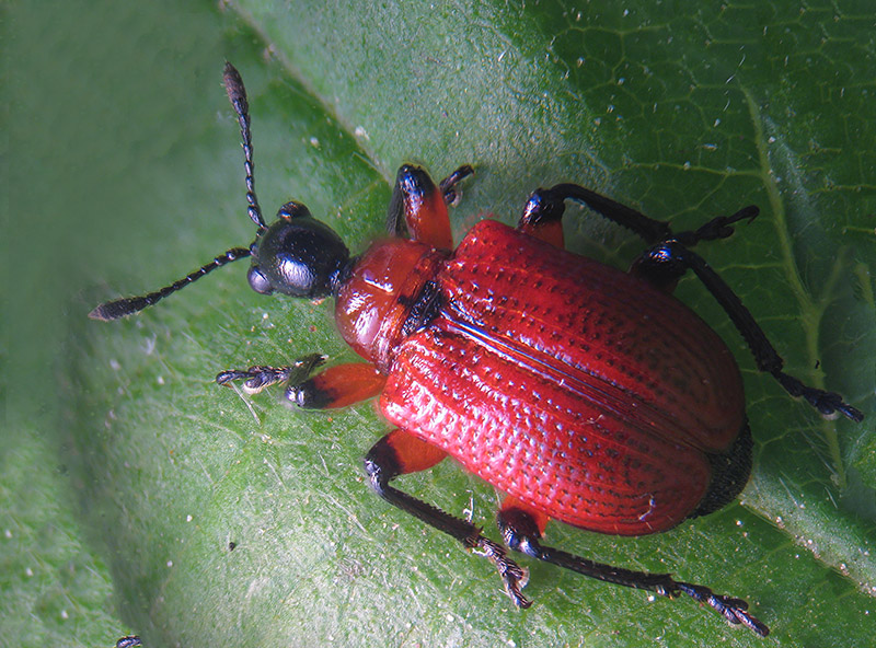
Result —
[[393, 506], [443, 531], [460, 541], [465, 548], [484, 556], [496, 567], [505, 585], [505, 591], [518, 608], [529, 608], [531, 601], [520, 590], [527, 581], [527, 572], [508, 558], [505, 548], [484, 537], [481, 530], [460, 518], [420, 501], [406, 493], [393, 488], [389, 483], [402, 474], [401, 462], [395, 450], [388, 442], [389, 435], [380, 439], [365, 458], [365, 471], [374, 491]]

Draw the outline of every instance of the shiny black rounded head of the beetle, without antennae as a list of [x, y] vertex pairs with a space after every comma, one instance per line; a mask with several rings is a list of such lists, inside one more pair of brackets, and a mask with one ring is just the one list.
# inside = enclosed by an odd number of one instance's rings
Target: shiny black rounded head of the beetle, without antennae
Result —
[[332, 228], [300, 202], [287, 202], [277, 220], [260, 230], [250, 247], [247, 274], [256, 292], [318, 299], [334, 293], [349, 263], [349, 251]]

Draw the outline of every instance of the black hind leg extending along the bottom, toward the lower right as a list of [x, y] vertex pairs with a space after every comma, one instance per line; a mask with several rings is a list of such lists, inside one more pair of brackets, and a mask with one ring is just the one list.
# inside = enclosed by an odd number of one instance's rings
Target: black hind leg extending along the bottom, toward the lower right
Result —
[[622, 585], [642, 590], [656, 592], [662, 597], [673, 599], [679, 594], [689, 597], [706, 603], [717, 610], [729, 623], [742, 624], [760, 636], [765, 637], [770, 633], [760, 621], [750, 615], [748, 603], [741, 599], [715, 594], [711, 589], [701, 585], [679, 582], [669, 574], [648, 574], [645, 571], [633, 571], [595, 563], [573, 554], [542, 545], [539, 542], [539, 533], [535, 521], [526, 511], [518, 508], [509, 508], [499, 512], [498, 525], [505, 543], [514, 551], [521, 552], [545, 563], [552, 563], [560, 567], [565, 567], [572, 571], [577, 571], [584, 576], [589, 576], [606, 582]]

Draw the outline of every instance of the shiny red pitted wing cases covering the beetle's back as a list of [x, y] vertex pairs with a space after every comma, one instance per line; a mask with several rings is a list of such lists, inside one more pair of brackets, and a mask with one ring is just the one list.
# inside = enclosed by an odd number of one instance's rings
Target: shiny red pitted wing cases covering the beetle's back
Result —
[[475, 225], [437, 268], [441, 309], [394, 348], [380, 409], [549, 518], [670, 529], [745, 425], [736, 362], [671, 296], [550, 247]]

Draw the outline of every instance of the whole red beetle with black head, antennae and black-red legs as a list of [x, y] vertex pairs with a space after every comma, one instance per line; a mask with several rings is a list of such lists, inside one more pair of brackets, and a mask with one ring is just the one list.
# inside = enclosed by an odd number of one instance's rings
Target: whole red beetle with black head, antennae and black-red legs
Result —
[[[436, 187], [420, 169], [402, 166], [389, 210], [391, 238], [350, 258], [339, 236], [300, 202], [287, 202], [277, 221], [265, 224], [246, 94], [230, 63], [224, 84], [243, 138], [255, 242], [157, 292], [102, 304], [91, 317], [129, 315], [215, 268], [252, 257], [250, 286], [260, 293], [335, 297], [341, 334], [367, 362], [309, 378], [323, 361], [313, 355], [292, 367], [223, 371], [217, 381], [243, 380], [251, 392], [286, 383], [286, 397], [307, 408], [380, 396], [380, 410], [397, 427], [366, 456], [371, 486], [488, 558], [517, 605], [530, 604], [520, 592], [526, 572], [505, 547], [390, 482], [450, 455], [506, 494], [498, 525], [507, 547], [609, 582], [688, 594], [765, 636], [769, 628], [740, 599], [541, 544], [551, 519], [621, 535], [665, 531], [730, 502], [748, 481], [752, 441], [736, 361], [670, 294], [688, 269], [730, 316], [762, 371], [826, 416], [863, 419], [838, 394], [784, 373], [748, 310], [690, 250], [730, 235], [734, 222], [753, 219], [758, 209], [673, 233], [666, 222], [561, 184], [535, 190], [516, 229], [483, 220], [454, 250], [447, 206], [472, 169], [461, 166]], [[566, 199], [649, 244], [629, 274], [563, 250]], [[405, 229], [410, 238], [402, 236]]]

